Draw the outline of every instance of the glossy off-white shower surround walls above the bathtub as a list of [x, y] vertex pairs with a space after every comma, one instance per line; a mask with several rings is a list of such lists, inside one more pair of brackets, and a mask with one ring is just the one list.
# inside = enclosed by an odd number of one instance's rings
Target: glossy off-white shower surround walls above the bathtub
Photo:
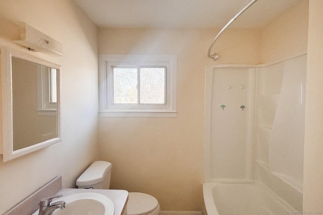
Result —
[[306, 54], [205, 77], [204, 182], [258, 181], [302, 210]]

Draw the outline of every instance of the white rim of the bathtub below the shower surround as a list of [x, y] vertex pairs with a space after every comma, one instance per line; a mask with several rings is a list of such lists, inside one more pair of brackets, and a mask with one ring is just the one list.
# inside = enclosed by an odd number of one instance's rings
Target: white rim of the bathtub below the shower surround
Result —
[[232, 180], [232, 179], [212, 179], [212, 182], [203, 182], [202, 183], [202, 197], [203, 197], [203, 207], [205, 208], [206, 214], [207, 211], [211, 212], [211, 215], [219, 215], [217, 206], [214, 203], [212, 188], [215, 186], [221, 186], [226, 184], [241, 184], [241, 185], [251, 185], [269, 195], [274, 201], [286, 208], [286, 211], [297, 211], [293, 206], [287, 203], [284, 199], [279, 197], [274, 191], [268, 188], [264, 183], [260, 181], [253, 180]]

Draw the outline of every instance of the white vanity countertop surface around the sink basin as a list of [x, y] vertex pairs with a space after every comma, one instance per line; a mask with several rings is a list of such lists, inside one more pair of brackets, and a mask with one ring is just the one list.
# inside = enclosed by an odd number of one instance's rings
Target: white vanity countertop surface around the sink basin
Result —
[[[126, 205], [128, 202], [128, 191], [126, 190], [105, 190], [105, 189], [75, 189], [75, 188], [63, 188], [57, 194], [63, 196], [72, 195], [75, 193], [99, 193], [106, 197], [109, 197], [115, 206], [115, 215], [121, 215], [126, 212]], [[127, 214], [127, 213], [125, 213]]]

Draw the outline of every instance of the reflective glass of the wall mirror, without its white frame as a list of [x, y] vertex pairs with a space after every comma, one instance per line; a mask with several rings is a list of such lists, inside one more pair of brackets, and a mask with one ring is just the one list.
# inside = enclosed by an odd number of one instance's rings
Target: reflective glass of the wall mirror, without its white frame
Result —
[[13, 150], [58, 137], [57, 70], [12, 57]]

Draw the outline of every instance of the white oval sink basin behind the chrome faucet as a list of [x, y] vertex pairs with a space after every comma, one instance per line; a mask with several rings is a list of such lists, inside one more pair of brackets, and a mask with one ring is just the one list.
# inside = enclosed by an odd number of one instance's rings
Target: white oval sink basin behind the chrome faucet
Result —
[[[114, 215], [115, 208], [110, 198], [99, 193], [76, 193], [55, 201], [65, 201], [64, 209], [56, 209], [52, 215]], [[39, 210], [32, 215], [37, 215]]]

